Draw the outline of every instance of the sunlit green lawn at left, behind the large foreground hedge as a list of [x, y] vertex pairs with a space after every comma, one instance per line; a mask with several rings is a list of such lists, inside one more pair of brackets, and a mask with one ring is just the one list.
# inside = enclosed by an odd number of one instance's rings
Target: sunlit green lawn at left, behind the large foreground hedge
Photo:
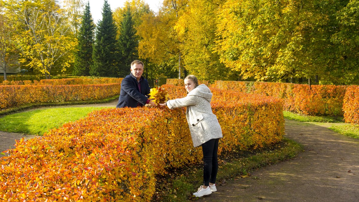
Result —
[[0, 118], [0, 131], [42, 136], [52, 128], [61, 127], [102, 108], [104, 107], [61, 107], [10, 114]]

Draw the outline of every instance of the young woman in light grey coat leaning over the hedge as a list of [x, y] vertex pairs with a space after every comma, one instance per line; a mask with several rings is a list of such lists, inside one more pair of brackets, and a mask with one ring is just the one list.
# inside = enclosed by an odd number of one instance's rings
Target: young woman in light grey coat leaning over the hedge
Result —
[[203, 185], [197, 192], [196, 197], [211, 194], [217, 191], [216, 177], [218, 171], [218, 140], [222, 138], [222, 129], [216, 115], [211, 108], [211, 90], [204, 84], [198, 85], [194, 75], [185, 78], [187, 96], [176, 100], [169, 100], [161, 106], [169, 109], [187, 107], [186, 118], [190, 128], [194, 147], [202, 146], [203, 151]]

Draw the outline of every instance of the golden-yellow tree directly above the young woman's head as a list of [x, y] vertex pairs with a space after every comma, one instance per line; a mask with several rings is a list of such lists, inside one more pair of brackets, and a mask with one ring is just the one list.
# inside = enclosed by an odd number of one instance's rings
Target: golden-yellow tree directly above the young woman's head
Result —
[[234, 79], [234, 72], [220, 63], [218, 54], [213, 52], [218, 8], [216, 1], [192, 0], [174, 27], [183, 41], [180, 43], [183, 65], [189, 74], [200, 79]]

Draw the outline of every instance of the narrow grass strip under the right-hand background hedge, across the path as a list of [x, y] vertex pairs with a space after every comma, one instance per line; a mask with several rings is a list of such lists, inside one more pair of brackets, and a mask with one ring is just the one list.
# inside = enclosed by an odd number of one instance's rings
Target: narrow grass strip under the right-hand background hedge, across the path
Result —
[[290, 111], [283, 111], [283, 115], [285, 119], [302, 122], [344, 123], [343, 117], [308, 116], [304, 114], [295, 114]]

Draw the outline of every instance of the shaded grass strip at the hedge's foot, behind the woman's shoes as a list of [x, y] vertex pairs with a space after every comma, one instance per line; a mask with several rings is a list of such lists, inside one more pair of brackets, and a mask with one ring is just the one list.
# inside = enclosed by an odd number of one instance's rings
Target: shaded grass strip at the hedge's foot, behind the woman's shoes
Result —
[[[217, 174], [217, 187], [220, 191], [221, 185], [225, 185], [226, 179], [246, 178], [250, 177], [249, 172], [254, 169], [277, 164], [281, 161], [293, 159], [298, 153], [304, 151], [304, 147], [288, 138], [278, 143], [281, 147], [274, 150], [258, 152], [255, 155], [232, 159], [230, 162], [224, 162], [219, 165]], [[219, 157], [219, 160], [221, 160]], [[202, 166], [202, 165], [200, 165]], [[197, 198], [192, 196], [201, 185], [203, 170], [194, 169], [189, 173], [176, 173], [178, 175], [174, 179], [167, 180], [169, 184], [167, 190], [159, 193], [161, 201], [191, 201]], [[195, 178], [191, 177], [195, 176]], [[159, 184], [159, 186], [162, 186]]]

